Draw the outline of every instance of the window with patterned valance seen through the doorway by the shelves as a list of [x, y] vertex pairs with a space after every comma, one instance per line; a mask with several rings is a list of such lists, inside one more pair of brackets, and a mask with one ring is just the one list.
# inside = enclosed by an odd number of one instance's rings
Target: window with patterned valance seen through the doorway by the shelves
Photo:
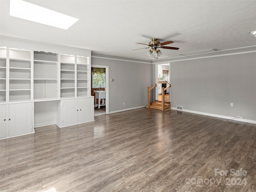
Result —
[[92, 88], [105, 87], [106, 69], [92, 68]]

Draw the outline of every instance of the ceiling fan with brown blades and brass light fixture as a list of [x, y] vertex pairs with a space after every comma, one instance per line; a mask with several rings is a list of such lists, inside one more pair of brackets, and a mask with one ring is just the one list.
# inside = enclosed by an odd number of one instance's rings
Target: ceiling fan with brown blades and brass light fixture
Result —
[[[158, 58], [158, 56], [162, 55], [162, 52], [159, 50], [159, 48], [163, 48], [163, 49], [174, 49], [174, 50], [178, 50], [179, 48], [177, 47], [168, 47], [168, 46], [163, 46], [163, 45], [167, 45], [167, 44], [171, 44], [174, 43], [173, 41], [166, 41], [163, 43], [160, 43], [160, 41], [158, 41], [157, 39], [153, 38], [152, 41], [150, 41], [147, 44], [144, 43], [138, 43], [138, 44], [142, 44], [142, 45], [147, 45], [148, 47], [145, 48], [140, 48], [140, 49], [148, 49], [150, 48], [150, 50], [148, 51], [147, 55], [148, 56], [152, 56], [154, 58]], [[134, 50], [139, 50], [139, 49], [134, 49]], [[132, 50], [132, 51], [134, 51]]]

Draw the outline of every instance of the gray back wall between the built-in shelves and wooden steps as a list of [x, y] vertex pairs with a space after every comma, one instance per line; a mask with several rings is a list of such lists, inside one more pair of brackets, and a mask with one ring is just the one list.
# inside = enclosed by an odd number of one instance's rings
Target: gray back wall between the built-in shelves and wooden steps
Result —
[[[92, 65], [109, 66], [109, 112], [147, 104], [147, 87], [152, 86], [152, 64], [92, 57]], [[125, 104], [123, 106], [123, 103]]]

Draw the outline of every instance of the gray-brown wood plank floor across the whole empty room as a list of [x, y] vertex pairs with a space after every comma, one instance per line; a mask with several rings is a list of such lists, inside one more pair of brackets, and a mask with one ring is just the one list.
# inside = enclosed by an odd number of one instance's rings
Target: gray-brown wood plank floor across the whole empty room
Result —
[[256, 192], [256, 125], [141, 108], [36, 128], [0, 140], [0, 191]]

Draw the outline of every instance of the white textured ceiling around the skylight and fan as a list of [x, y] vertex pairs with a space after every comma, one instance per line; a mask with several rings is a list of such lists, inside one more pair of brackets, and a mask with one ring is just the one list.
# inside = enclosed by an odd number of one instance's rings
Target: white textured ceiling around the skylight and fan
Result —
[[151, 38], [172, 40], [160, 58], [217, 48], [255, 46], [255, 0], [27, 0], [78, 18], [68, 30], [9, 16], [9, 0], [0, 0], [0, 35], [92, 50], [114, 56], [152, 60], [146, 46]]

